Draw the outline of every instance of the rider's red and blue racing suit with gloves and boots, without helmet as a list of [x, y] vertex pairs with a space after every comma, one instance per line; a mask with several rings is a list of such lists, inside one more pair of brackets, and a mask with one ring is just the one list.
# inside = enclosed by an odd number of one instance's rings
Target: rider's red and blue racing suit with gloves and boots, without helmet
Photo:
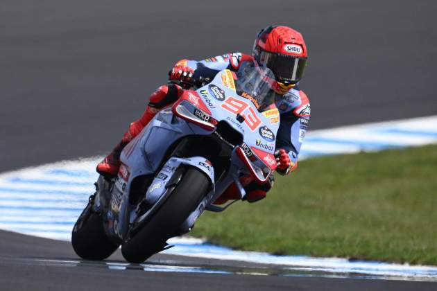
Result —
[[[169, 73], [170, 80], [182, 80], [189, 82], [196, 69], [203, 69], [203, 76], [209, 75], [212, 80], [218, 71], [230, 69], [238, 71], [242, 62], [253, 62], [250, 55], [243, 53], [228, 53], [214, 58], [208, 58], [200, 62], [193, 60], [180, 60]], [[183, 89], [178, 85], [162, 85], [150, 96], [146, 111], [137, 121], [130, 123], [128, 131], [123, 135], [120, 143], [105, 157], [97, 166], [97, 172], [105, 177], [117, 175], [120, 166], [120, 153], [124, 146], [131, 141], [152, 120], [160, 110], [170, 107], [182, 95]], [[286, 175], [298, 166], [298, 153], [309, 125], [310, 106], [309, 100], [303, 91], [296, 87], [286, 94], [277, 94], [275, 99], [280, 111], [280, 127], [277, 132], [275, 156], [278, 161], [277, 172]], [[266, 195], [273, 182], [257, 185], [250, 179], [243, 179], [244, 188], [248, 191], [247, 200], [254, 202]], [[224, 203], [235, 197], [235, 189], [228, 188], [216, 203]], [[223, 199], [222, 199], [223, 198]], [[237, 198], [235, 198], [237, 199]]]

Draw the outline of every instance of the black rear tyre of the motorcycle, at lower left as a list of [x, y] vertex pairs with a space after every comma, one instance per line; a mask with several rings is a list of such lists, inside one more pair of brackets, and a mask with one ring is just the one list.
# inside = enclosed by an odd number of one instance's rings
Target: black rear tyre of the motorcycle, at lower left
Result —
[[104, 260], [119, 247], [106, 236], [101, 216], [92, 212], [92, 202], [74, 224], [71, 245], [74, 252], [86, 260]]

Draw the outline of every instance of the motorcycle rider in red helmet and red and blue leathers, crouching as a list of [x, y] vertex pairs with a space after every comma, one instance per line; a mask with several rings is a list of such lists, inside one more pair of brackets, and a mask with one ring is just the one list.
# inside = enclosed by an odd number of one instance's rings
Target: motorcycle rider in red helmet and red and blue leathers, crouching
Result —
[[[280, 127], [277, 131], [275, 157], [277, 173], [287, 175], [298, 166], [298, 154], [309, 125], [310, 106], [306, 94], [298, 89], [307, 62], [307, 46], [302, 35], [287, 26], [268, 26], [262, 29], [252, 49], [252, 55], [227, 53], [208, 58], [200, 62], [180, 60], [169, 72], [170, 81], [182, 81], [188, 84], [196, 70], [203, 69], [207, 75], [205, 81], [211, 81], [216, 73], [223, 69], [238, 71], [243, 62], [255, 66], [268, 67], [273, 71], [275, 80], [271, 88], [275, 91], [275, 103], [280, 112]], [[97, 172], [105, 177], [115, 177], [120, 167], [121, 150], [152, 120], [162, 109], [171, 107], [182, 95], [186, 85], [162, 85], [149, 98], [146, 111], [137, 121], [130, 123], [128, 131], [110, 154], [97, 165]], [[271, 176], [273, 177], [273, 175]], [[250, 177], [242, 179], [246, 191], [246, 200], [255, 202], [266, 197], [273, 186], [273, 179], [259, 185]], [[223, 204], [228, 200], [239, 199], [237, 187], [231, 185], [214, 202]]]

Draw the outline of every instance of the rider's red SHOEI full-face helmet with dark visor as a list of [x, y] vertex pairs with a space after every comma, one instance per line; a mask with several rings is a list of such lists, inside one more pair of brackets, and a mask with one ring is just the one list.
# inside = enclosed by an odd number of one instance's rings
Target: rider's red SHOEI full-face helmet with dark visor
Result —
[[273, 89], [285, 94], [302, 78], [307, 65], [307, 45], [302, 35], [287, 26], [268, 26], [253, 45], [253, 58], [275, 75]]

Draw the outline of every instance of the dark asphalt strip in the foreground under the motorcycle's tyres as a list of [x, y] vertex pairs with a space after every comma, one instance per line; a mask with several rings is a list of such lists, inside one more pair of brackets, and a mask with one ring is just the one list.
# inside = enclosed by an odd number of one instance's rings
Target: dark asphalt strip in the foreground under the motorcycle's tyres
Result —
[[[117, 251], [107, 262], [80, 261], [69, 243], [0, 231], [0, 290], [302, 290], [385, 291], [435, 290], [436, 283], [369, 279], [319, 278], [305, 274], [281, 276], [268, 265], [155, 255], [144, 265], [123, 262]], [[114, 267], [110, 269], [108, 265]], [[166, 268], [198, 267], [203, 272]], [[155, 270], [160, 269], [160, 272]], [[164, 272], [162, 272], [164, 270]], [[226, 272], [228, 274], [220, 274]], [[234, 274], [234, 273], [239, 274]], [[277, 273], [275, 273], [277, 272]], [[250, 274], [252, 273], [252, 274]], [[258, 273], [254, 274], [254, 273]]]

